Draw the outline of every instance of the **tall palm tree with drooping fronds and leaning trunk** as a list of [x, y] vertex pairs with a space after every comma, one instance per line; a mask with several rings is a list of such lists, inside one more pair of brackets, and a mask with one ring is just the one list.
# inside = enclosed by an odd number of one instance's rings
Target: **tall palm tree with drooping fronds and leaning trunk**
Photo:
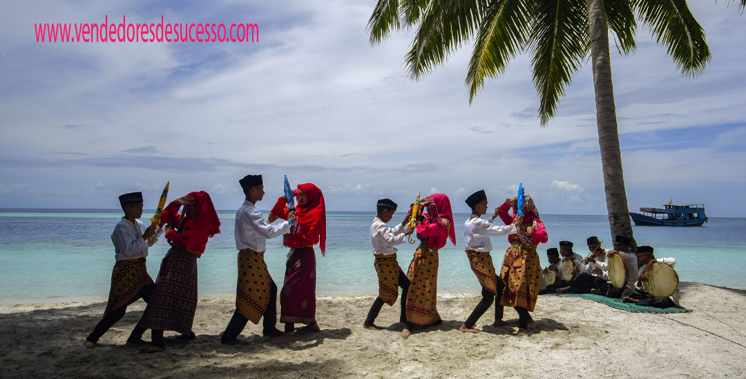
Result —
[[686, 0], [378, 0], [368, 28], [370, 42], [376, 45], [392, 31], [416, 26], [405, 58], [412, 80], [430, 74], [474, 38], [466, 74], [470, 103], [485, 77], [498, 77], [510, 58], [529, 51], [542, 127], [554, 118], [571, 75], [590, 57], [609, 226], [612, 235], [633, 238], [621, 167], [609, 29], [620, 54], [630, 54], [636, 49], [638, 19], [668, 48], [683, 75], [703, 71], [709, 47]]

